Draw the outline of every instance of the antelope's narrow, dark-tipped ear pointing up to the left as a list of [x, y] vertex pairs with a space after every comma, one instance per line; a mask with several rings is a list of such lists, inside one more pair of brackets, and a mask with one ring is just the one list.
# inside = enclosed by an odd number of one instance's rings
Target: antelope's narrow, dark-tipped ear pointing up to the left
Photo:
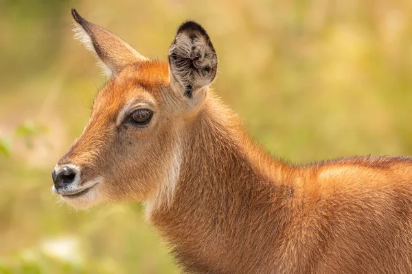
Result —
[[75, 9], [71, 9], [71, 14], [76, 21], [75, 37], [84, 44], [86, 49], [98, 56], [106, 75], [116, 77], [129, 64], [147, 60], [124, 40], [106, 29], [90, 23]]

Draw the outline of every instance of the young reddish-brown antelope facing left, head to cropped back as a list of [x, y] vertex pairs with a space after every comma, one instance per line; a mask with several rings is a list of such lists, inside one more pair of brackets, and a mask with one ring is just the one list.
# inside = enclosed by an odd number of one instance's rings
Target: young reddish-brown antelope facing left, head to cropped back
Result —
[[72, 15], [110, 77], [52, 172], [63, 201], [143, 202], [185, 273], [412, 273], [412, 158], [273, 158], [211, 90], [201, 25], [164, 62]]

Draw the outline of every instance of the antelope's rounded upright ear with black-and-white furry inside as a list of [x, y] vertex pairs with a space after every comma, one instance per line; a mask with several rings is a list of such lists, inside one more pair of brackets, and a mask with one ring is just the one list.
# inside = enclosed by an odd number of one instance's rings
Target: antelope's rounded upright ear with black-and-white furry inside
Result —
[[170, 84], [176, 92], [203, 101], [216, 77], [218, 57], [205, 29], [194, 21], [183, 23], [169, 49]]

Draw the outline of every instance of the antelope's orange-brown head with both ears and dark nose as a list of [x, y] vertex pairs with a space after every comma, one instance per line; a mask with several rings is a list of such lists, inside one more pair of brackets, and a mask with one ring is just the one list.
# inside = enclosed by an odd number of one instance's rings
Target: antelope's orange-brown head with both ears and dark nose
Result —
[[150, 60], [72, 10], [76, 37], [110, 76], [84, 132], [52, 172], [55, 193], [75, 208], [107, 201], [171, 199], [181, 136], [207, 101], [217, 56], [205, 29], [183, 23], [168, 62]]

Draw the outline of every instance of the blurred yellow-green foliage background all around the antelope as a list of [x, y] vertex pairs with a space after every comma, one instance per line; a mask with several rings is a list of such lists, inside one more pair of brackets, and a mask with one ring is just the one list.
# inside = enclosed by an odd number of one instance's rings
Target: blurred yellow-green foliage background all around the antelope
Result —
[[412, 1], [0, 0], [0, 273], [178, 273], [139, 204], [52, 195], [105, 80], [71, 7], [151, 58], [201, 23], [216, 92], [277, 157], [412, 155]]

